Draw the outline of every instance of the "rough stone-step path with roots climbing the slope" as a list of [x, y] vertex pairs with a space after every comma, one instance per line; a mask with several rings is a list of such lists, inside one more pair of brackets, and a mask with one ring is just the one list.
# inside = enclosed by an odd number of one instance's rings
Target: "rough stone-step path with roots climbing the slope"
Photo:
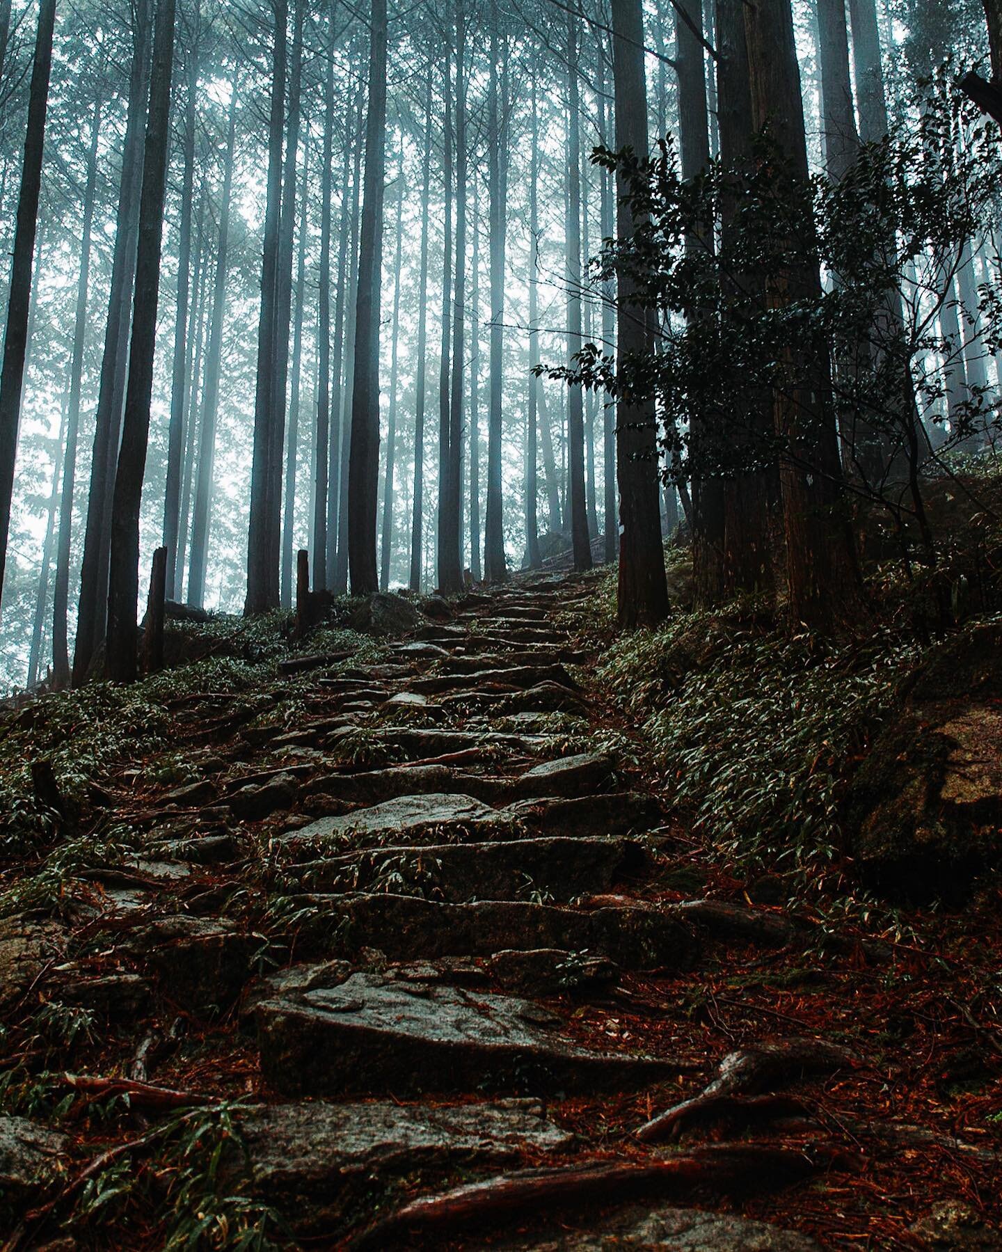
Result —
[[[650, 779], [609, 750], [630, 729], [560, 625], [586, 596], [522, 577], [368, 664], [299, 656], [278, 715], [179, 725], [194, 781], [109, 782], [142, 855], [78, 868], [66, 920], [24, 921], [21, 950], [25, 994], [101, 1027], [51, 1068], [127, 1103], [11, 1247], [53, 1233], [88, 1159], [138, 1142], [142, 1174], [155, 1127], [192, 1109], [207, 1143], [225, 1118], [243, 1144], [205, 1193], [242, 1197], [278, 1246], [858, 1246], [853, 1108], [881, 1074], [768, 992], [830, 990], [887, 952], [820, 958], [780, 911], [704, 898]], [[14, 1132], [30, 1158], [31, 1126]], [[130, 1203], [106, 1246], [155, 1246]]]

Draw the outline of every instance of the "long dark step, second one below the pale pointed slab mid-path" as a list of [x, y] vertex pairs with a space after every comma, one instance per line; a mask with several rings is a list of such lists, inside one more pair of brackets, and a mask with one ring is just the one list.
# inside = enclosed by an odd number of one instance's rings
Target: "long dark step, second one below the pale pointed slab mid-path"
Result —
[[[659, 909], [560, 908], [527, 901], [438, 904], [412, 895], [312, 896], [338, 948], [378, 948], [391, 960], [490, 957], [505, 948], [565, 948], [626, 969], [689, 969], [693, 930]], [[304, 925], [306, 933], [306, 925]]]

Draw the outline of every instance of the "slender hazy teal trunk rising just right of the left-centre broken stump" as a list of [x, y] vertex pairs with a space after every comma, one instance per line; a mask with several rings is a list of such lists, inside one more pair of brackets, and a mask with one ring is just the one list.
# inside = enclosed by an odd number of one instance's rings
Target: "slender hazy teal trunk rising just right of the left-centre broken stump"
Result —
[[[331, 471], [331, 192], [333, 182], [334, 143], [334, 13], [336, 0], [327, 9], [327, 66], [323, 76], [323, 156], [321, 159], [321, 263], [317, 292], [317, 428], [313, 438], [313, 586], [327, 587], [327, 510], [332, 487]], [[347, 138], [347, 135], [346, 135]], [[347, 149], [347, 144], [346, 144]], [[344, 155], [347, 175], [348, 156]], [[346, 188], [347, 192], [347, 188]], [[341, 202], [341, 238], [347, 248]], [[342, 249], [342, 272], [343, 272]]]

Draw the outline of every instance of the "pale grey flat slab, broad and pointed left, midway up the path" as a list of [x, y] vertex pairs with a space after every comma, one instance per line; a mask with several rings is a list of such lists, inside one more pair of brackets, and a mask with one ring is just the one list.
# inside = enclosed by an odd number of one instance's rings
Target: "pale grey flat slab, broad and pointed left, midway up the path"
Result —
[[321, 818], [308, 826], [283, 836], [294, 843], [380, 844], [415, 841], [432, 831], [458, 831], [468, 836], [490, 836], [511, 831], [512, 816], [492, 809], [471, 795], [428, 793], [402, 795], [368, 809], [354, 809], [342, 816]]

